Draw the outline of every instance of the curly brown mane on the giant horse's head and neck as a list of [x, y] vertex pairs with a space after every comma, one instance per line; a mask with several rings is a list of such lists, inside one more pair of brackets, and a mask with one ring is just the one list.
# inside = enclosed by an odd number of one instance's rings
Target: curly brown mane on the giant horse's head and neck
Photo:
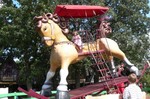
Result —
[[43, 16], [35, 16], [33, 21], [36, 23], [36, 30], [40, 29], [42, 23], [48, 23], [48, 20], [55, 22], [64, 34], [69, 33], [65, 18], [59, 17], [57, 14], [47, 13]]

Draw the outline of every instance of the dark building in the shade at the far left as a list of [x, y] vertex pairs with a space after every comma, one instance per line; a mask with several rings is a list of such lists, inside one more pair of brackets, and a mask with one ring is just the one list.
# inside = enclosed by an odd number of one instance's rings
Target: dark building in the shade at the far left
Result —
[[18, 71], [17, 65], [10, 56], [0, 57], [0, 88], [9, 87], [9, 92], [17, 85]]

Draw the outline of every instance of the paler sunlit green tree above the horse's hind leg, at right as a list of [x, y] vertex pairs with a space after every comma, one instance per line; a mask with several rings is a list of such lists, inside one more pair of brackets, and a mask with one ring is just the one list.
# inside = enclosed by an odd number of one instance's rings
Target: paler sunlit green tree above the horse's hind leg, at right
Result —
[[148, 0], [111, 0], [106, 5], [111, 6], [110, 13], [114, 17], [111, 38], [117, 40], [134, 63], [141, 63], [150, 44], [147, 36], [150, 24], [146, 16], [150, 10]]

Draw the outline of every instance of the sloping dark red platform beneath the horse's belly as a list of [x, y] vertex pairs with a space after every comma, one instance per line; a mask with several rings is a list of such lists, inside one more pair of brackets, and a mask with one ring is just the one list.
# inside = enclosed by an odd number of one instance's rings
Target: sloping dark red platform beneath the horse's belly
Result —
[[127, 77], [118, 77], [115, 79], [107, 80], [105, 82], [99, 82], [96, 84], [91, 84], [81, 88], [77, 88], [69, 92], [71, 96], [70, 99], [84, 99], [86, 95], [92, 94], [94, 92], [101, 92], [103, 90], [108, 89], [107, 84], [109, 86], [114, 86], [127, 81]]

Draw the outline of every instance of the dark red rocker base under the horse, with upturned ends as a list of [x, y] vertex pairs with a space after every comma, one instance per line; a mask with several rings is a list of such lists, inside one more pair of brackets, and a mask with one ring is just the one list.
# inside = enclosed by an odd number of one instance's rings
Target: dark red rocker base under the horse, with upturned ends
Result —
[[[148, 61], [145, 64], [144, 69], [142, 70], [141, 77], [144, 75], [145, 70], [147, 68], [150, 68], [150, 63]], [[141, 79], [141, 77], [139, 78], [139, 80]], [[69, 91], [70, 99], [85, 99], [86, 95], [92, 94], [94, 92], [100, 93], [104, 90], [109, 92], [108, 85], [110, 88], [112, 88], [114, 86], [117, 88], [116, 90], [114, 90], [115, 93], [122, 93], [124, 88], [125, 88], [124, 83], [127, 83], [127, 82], [128, 82], [127, 77], [122, 76], [122, 77], [118, 77], [118, 78], [114, 78], [114, 79], [105, 80], [103, 82], [90, 84], [90, 85]], [[36, 93], [32, 89], [30, 89], [29, 91], [26, 91], [26, 90], [19, 87], [18, 90], [26, 93], [28, 96], [35, 97], [38, 99], [50, 99], [48, 97], [45, 97], [45, 96], [42, 96], [42, 95]]]

